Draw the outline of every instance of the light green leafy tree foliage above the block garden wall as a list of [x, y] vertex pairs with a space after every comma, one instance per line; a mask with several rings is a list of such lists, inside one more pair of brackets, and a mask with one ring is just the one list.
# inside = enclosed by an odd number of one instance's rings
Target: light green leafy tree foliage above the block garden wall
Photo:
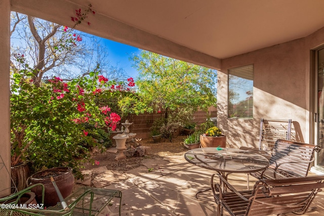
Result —
[[216, 104], [214, 70], [147, 51], [133, 56], [132, 61], [140, 72], [137, 95], [119, 103], [124, 112], [196, 111]]

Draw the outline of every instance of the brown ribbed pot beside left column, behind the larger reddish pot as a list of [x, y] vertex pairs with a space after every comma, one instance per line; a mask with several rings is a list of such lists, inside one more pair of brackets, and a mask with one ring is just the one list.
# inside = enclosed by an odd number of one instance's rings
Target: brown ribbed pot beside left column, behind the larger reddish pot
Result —
[[26, 188], [26, 181], [30, 175], [29, 167], [26, 163], [20, 163], [11, 167], [12, 189], [11, 193], [15, 193], [16, 187], [18, 191]]

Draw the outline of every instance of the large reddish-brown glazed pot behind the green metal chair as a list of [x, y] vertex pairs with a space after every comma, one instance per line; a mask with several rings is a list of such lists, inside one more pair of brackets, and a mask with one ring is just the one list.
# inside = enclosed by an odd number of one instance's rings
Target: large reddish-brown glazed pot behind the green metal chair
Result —
[[[36, 172], [35, 174], [31, 175], [27, 180], [27, 185], [30, 186], [37, 183], [42, 183], [44, 185], [44, 205], [47, 207], [56, 205], [57, 202], [60, 201], [50, 177], [53, 177], [63, 198], [71, 194], [74, 184], [74, 176], [72, 174], [71, 167], [54, 167]], [[36, 186], [32, 188], [31, 191], [36, 194], [37, 202], [41, 203], [42, 187]]]

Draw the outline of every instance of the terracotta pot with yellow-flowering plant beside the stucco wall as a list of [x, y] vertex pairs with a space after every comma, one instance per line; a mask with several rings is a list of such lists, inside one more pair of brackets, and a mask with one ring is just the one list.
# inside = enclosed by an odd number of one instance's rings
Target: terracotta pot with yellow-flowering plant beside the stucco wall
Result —
[[226, 136], [222, 134], [221, 129], [213, 126], [207, 129], [206, 133], [200, 135], [201, 147], [226, 147]]

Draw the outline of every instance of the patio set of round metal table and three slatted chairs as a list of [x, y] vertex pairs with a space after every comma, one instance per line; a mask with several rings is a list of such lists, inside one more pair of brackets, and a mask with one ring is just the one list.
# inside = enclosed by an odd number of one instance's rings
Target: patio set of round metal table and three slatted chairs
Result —
[[[291, 120], [287, 121], [289, 124]], [[316, 194], [324, 187], [324, 175], [307, 176], [318, 146], [286, 140], [290, 133], [270, 132], [261, 119], [259, 149], [200, 148], [185, 153], [185, 159], [199, 167], [215, 170], [211, 187], [217, 203], [217, 214], [225, 208], [232, 216], [272, 215], [293, 212], [304, 214]], [[285, 130], [290, 127], [284, 127]], [[271, 138], [266, 137], [271, 134]], [[282, 139], [284, 138], [284, 139]], [[274, 139], [277, 139], [273, 142]], [[265, 140], [270, 141], [269, 145]], [[248, 189], [237, 190], [228, 182], [231, 173], [248, 174]], [[249, 175], [258, 179], [249, 189]]]

